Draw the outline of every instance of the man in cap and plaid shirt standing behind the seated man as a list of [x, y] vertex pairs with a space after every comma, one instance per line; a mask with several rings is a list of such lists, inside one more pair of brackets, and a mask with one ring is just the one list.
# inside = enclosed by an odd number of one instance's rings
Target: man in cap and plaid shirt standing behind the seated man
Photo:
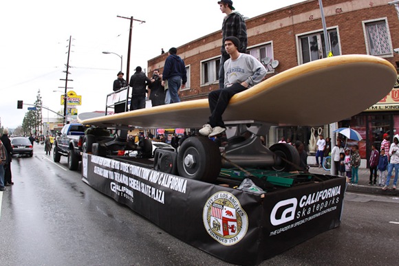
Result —
[[226, 14], [222, 24], [222, 47], [220, 52], [222, 52], [222, 57], [220, 58], [220, 68], [219, 68], [219, 89], [224, 87], [224, 62], [230, 56], [226, 49], [224, 49], [224, 41], [229, 36], [235, 36], [239, 39], [238, 51], [246, 54], [246, 45], [248, 43], [248, 38], [246, 34], [246, 25], [244, 17], [238, 12], [234, 12], [233, 1], [231, 0], [221, 0], [217, 2], [220, 6], [222, 13]]

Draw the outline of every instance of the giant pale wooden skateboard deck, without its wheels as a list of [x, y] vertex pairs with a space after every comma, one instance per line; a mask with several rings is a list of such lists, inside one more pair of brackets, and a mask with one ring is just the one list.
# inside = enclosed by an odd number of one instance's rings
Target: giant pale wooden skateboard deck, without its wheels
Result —
[[[356, 115], [389, 93], [395, 67], [376, 56], [315, 60], [267, 78], [231, 98], [223, 119], [277, 125], [330, 124]], [[210, 115], [208, 99], [191, 100], [78, 120], [94, 126], [200, 128]]]

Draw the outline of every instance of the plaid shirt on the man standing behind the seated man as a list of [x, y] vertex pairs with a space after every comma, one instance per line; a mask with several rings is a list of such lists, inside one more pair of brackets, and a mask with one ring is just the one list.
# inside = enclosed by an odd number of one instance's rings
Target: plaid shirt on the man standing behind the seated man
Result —
[[222, 52], [222, 54], [227, 54], [226, 49], [224, 49], [224, 40], [229, 36], [235, 36], [239, 38], [240, 47], [238, 51], [244, 54], [246, 53], [248, 38], [246, 35], [246, 25], [244, 17], [241, 14], [237, 12], [232, 12], [228, 14], [228, 16], [225, 16], [222, 25], [222, 32], [222, 48], [220, 48], [220, 52]]

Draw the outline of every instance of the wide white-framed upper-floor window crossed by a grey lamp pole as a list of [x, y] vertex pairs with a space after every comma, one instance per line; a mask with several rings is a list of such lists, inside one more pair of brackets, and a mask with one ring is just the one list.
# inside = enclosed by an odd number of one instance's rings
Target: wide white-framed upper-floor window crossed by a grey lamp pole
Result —
[[[334, 56], [341, 55], [339, 36], [336, 28], [327, 30], [330, 49]], [[325, 51], [325, 41], [323, 31], [310, 32], [308, 34], [297, 35], [297, 45], [299, 48], [299, 65], [310, 61], [326, 58], [328, 52]]]

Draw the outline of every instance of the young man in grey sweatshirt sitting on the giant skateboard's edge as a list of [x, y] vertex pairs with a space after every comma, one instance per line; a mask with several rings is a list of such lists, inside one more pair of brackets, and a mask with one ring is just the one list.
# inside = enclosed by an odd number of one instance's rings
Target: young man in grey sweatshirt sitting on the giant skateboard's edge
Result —
[[226, 131], [222, 114], [226, 110], [230, 98], [236, 93], [257, 85], [266, 76], [266, 68], [257, 58], [238, 52], [239, 39], [237, 37], [227, 37], [224, 47], [230, 55], [230, 58], [224, 63], [224, 88], [209, 93], [211, 116], [208, 124], [204, 124], [200, 129], [200, 133], [208, 137]]

